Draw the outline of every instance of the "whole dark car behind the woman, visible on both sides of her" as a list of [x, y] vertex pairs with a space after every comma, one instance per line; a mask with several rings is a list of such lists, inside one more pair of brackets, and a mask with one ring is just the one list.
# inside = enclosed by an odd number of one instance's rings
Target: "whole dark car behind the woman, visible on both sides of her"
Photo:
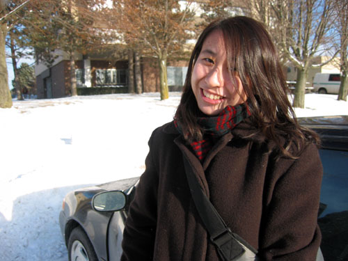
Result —
[[[348, 116], [299, 118], [322, 138], [318, 223], [324, 260], [348, 260]], [[139, 177], [68, 193], [59, 215], [69, 260], [120, 260], [122, 231]]]

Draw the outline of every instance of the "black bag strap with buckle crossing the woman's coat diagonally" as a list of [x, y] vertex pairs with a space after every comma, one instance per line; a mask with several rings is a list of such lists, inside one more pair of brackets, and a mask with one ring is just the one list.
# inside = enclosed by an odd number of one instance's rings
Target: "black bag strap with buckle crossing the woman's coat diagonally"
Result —
[[223, 260], [230, 261], [239, 258], [245, 252], [244, 248], [237, 242], [235, 235], [231, 232], [230, 228], [226, 226], [226, 223], [203, 192], [189, 164], [189, 160], [184, 155], [182, 156], [193, 202], [209, 233], [210, 240], [216, 246]]

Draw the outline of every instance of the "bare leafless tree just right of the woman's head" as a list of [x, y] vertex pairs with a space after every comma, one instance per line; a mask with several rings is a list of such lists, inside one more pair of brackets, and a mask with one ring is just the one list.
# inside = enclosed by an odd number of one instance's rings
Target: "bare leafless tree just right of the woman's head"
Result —
[[317, 56], [333, 47], [333, 0], [275, 0], [271, 8], [281, 51], [297, 68], [293, 106], [303, 108], [309, 68], [319, 68], [335, 56], [315, 64]]

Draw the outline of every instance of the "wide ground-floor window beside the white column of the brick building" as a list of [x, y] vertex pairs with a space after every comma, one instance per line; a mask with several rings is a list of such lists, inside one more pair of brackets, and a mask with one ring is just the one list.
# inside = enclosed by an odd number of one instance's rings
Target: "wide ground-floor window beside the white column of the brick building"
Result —
[[127, 71], [116, 69], [95, 70], [97, 86], [124, 86], [127, 84]]

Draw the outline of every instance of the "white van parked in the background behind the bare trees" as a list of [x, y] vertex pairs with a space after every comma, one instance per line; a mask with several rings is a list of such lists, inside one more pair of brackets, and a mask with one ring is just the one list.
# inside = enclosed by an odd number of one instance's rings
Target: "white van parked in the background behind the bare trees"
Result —
[[313, 79], [314, 91], [317, 93], [338, 94], [340, 90], [340, 74], [316, 73]]

